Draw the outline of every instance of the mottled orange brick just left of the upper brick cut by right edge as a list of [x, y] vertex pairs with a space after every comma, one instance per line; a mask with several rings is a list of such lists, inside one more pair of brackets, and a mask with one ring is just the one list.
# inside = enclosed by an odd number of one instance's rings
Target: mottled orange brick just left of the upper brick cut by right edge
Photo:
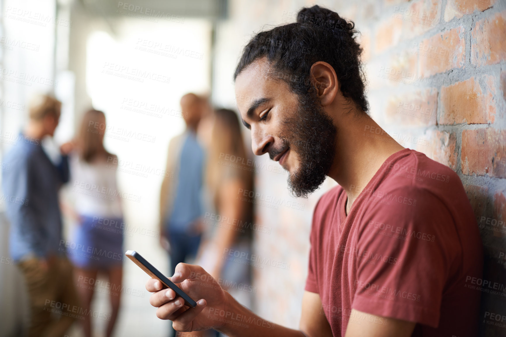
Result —
[[466, 62], [464, 28], [456, 27], [413, 43], [413, 53], [418, 55], [418, 73], [424, 77], [463, 68]]

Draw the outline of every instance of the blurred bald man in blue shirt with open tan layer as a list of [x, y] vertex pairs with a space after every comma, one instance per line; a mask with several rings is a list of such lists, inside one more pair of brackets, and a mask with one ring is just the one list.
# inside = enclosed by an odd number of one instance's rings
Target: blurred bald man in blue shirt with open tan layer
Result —
[[178, 263], [195, 258], [200, 245], [204, 150], [197, 127], [207, 105], [194, 93], [181, 98], [186, 130], [168, 145], [166, 172], [172, 178], [166, 174], [162, 181], [159, 228], [160, 243], [170, 255], [171, 275]]

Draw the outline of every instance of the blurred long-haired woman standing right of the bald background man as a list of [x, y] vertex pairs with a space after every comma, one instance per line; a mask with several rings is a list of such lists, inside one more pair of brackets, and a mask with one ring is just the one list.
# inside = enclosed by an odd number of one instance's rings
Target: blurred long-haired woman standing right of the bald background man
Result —
[[[249, 264], [227, 261], [227, 252], [231, 250], [246, 254], [251, 250], [252, 203], [237, 198], [239, 191], [252, 190], [253, 185], [239, 119], [232, 110], [218, 109], [205, 119], [199, 132], [207, 150], [205, 181], [210, 200], [197, 264], [208, 270], [234, 298], [250, 306]], [[228, 285], [231, 287], [227, 288]]]

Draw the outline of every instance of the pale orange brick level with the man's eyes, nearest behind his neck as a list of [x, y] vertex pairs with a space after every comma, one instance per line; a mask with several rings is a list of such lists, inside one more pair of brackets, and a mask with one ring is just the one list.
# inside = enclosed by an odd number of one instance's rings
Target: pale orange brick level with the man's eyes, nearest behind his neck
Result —
[[391, 96], [385, 119], [402, 126], [436, 125], [438, 91], [435, 88]]

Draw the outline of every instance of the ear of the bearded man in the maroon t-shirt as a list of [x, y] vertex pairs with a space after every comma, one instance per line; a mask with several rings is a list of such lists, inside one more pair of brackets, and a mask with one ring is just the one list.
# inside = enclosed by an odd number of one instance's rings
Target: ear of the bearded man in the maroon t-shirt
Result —
[[339, 92], [338, 76], [334, 68], [326, 62], [315, 62], [311, 66], [310, 78], [311, 84], [317, 90], [321, 105], [330, 105]]

